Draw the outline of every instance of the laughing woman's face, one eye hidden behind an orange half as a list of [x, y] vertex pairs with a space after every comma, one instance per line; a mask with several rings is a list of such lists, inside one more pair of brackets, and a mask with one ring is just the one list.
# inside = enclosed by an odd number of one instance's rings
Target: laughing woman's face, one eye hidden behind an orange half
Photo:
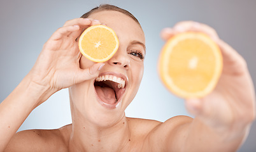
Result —
[[[69, 88], [73, 119], [110, 126], [124, 116], [139, 89], [144, 70], [145, 35], [137, 22], [118, 11], [99, 11], [89, 16], [112, 28], [119, 39], [117, 53], [99, 72], [99, 77]], [[93, 62], [82, 56], [80, 67]], [[118, 86], [119, 85], [119, 86]]]

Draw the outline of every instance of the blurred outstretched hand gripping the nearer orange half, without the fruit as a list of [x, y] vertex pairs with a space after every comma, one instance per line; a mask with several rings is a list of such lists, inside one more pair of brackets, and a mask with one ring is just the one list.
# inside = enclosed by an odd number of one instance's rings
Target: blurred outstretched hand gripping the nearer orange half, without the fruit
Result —
[[255, 91], [246, 61], [219, 39], [213, 28], [202, 23], [177, 23], [173, 28], [164, 28], [161, 37], [167, 41], [173, 35], [187, 31], [210, 35], [220, 47], [224, 60], [222, 75], [213, 92], [201, 99], [186, 99], [187, 110], [217, 132], [234, 136], [239, 136], [239, 132], [244, 134], [255, 118]]

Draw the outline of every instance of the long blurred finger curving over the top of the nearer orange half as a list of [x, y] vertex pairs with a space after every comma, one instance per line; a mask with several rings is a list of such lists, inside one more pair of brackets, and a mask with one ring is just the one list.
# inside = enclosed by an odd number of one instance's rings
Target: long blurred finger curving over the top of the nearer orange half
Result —
[[211, 28], [210, 26], [203, 24], [203, 23], [198, 23], [198, 22], [193, 22], [193, 21], [183, 21], [176, 23], [173, 27], [174, 33], [178, 34], [181, 32], [203, 32], [211, 37], [214, 41], [218, 41], [218, 34], [217, 32]]

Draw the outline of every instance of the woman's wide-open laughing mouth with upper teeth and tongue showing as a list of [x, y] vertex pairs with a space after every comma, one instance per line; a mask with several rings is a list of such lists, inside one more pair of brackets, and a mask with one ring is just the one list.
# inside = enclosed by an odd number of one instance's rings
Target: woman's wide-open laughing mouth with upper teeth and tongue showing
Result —
[[125, 92], [125, 80], [115, 75], [101, 75], [96, 78], [94, 87], [105, 106], [116, 108]]

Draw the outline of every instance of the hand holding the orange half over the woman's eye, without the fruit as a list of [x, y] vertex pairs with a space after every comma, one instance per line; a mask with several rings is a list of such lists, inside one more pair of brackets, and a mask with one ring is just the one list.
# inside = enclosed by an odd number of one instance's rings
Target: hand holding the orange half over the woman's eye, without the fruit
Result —
[[100, 24], [97, 20], [76, 18], [57, 29], [43, 46], [29, 76], [32, 82], [47, 87], [52, 92], [97, 77], [103, 63], [88, 69], [80, 68], [82, 54], [76, 39], [84, 28]]

